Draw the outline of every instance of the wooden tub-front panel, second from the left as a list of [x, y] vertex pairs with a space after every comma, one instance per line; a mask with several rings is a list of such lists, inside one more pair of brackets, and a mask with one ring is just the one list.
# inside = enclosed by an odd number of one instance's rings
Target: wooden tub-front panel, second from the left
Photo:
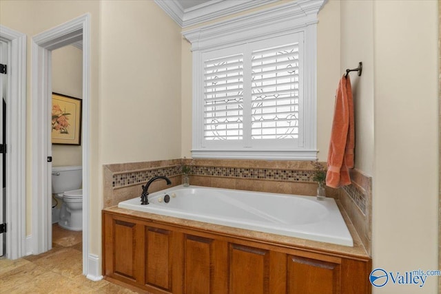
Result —
[[145, 256], [146, 256], [146, 284], [163, 288], [167, 291], [172, 290], [172, 258], [170, 252], [170, 238], [172, 232], [145, 228], [147, 238]]

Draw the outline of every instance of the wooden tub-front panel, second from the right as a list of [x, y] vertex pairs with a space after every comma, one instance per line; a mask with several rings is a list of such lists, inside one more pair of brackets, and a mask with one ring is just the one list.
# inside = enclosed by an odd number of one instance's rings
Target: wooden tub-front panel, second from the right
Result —
[[268, 293], [269, 251], [229, 244], [229, 293]]

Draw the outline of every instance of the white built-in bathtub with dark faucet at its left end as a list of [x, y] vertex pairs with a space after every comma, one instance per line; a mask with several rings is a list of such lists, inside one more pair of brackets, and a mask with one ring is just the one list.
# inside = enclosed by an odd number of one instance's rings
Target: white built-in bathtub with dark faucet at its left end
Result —
[[[333, 198], [239, 191], [182, 185], [151, 193], [118, 207], [209, 222], [228, 227], [353, 246], [353, 240]], [[168, 202], [166, 202], [168, 200]]]

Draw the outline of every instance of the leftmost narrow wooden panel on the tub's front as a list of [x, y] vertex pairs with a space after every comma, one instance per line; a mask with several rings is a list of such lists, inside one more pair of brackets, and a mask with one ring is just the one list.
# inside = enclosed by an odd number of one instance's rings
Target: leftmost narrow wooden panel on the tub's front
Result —
[[135, 256], [136, 224], [114, 220], [114, 273], [136, 280]]

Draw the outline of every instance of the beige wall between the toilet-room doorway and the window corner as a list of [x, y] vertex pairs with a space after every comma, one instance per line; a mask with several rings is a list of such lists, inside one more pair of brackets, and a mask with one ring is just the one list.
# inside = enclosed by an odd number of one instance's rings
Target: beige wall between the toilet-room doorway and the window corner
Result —
[[181, 28], [153, 1], [101, 4], [101, 160], [181, 157]]

